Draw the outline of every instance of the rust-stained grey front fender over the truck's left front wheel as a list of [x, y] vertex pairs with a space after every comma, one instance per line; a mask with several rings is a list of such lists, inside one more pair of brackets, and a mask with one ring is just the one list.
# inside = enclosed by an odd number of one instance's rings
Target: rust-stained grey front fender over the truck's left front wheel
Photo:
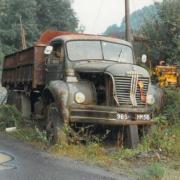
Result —
[[46, 98], [47, 92], [50, 92], [57, 107], [59, 109], [62, 121], [68, 123], [69, 121], [69, 110], [67, 107], [69, 89], [65, 82], [56, 80], [51, 81], [49, 85], [44, 89], [44, 98]]

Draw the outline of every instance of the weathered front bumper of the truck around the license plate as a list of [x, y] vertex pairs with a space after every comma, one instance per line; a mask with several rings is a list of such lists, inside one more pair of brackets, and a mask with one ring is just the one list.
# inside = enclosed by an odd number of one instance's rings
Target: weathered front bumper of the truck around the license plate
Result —
[[109, 107], [97, 105], [73, 105], [70, 107], [70, 122], [102, 125], [152, 125], [151, 120], [117, 120], [117, 113], [151, 113], [150, 108]]

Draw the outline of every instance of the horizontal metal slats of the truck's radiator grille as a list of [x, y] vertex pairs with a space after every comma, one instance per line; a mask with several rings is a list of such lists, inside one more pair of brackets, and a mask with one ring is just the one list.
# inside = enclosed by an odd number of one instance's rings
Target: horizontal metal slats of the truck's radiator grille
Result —
[[[115, 79], [116, 95], [117, 95], [119, 104], [132, 105], [132, 102], [130, 99], [132, 78], [126, 77], [126, 76], [114, 76], [114, 79]], [[144, 94], [146, 96], [147, 91], [148, 91], [149, 78], [138, 77], [138, 80], [143, 82]], [[145, 103], [141, 101], [140, 88], [138, 86], [137, 86], [137, 91], [136, 91], [136, 101], [137, 101], [137, 105], [145, 105]]]

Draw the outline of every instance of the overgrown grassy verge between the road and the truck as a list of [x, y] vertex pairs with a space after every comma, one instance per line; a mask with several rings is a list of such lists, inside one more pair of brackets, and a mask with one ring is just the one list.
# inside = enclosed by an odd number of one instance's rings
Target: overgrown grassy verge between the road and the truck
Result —
[[[117, 173], [128, 173], [137, 179], [176, 180], [180, 177], [180, 91], [168, 90], [166, 97], [166, 106], [162, 114], [156, 117], [156, 126], [141, 139], [136, 149], [115, 147], [112, 150], [106, 148], [102, 141], [94, 139], [86, 144], [59, 143], [50, 146], [46, 132], [36, 127], [21, 128], [20, 115], [13, 109], [14, 107], [8, 106], [5, 106], [3, 111], [0, 108], [0, 122], [3, 124], [1, 129], [7, 125], [16, 125], [18, 129], [11, 133], [13, 137], [46, 149], [55, 155], [83, 160]], [[10, 115], [8, 118], [7, 113]], [[2, 114], [5, 115], [5, 119]], [[9, 119], [8, 123], [3, 123], [7, 119]], [[77, 139], [77, 136], [75, 138]]]

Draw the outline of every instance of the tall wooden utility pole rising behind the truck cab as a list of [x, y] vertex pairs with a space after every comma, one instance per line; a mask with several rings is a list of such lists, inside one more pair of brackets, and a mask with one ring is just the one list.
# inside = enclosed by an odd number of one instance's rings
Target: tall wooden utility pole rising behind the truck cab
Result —
[[130, 8], [129, 8], [129, 0], [125, 0], [125, 25], [126, 25], [126, 41], [131, 42], [131, 24], [130, 24]]

